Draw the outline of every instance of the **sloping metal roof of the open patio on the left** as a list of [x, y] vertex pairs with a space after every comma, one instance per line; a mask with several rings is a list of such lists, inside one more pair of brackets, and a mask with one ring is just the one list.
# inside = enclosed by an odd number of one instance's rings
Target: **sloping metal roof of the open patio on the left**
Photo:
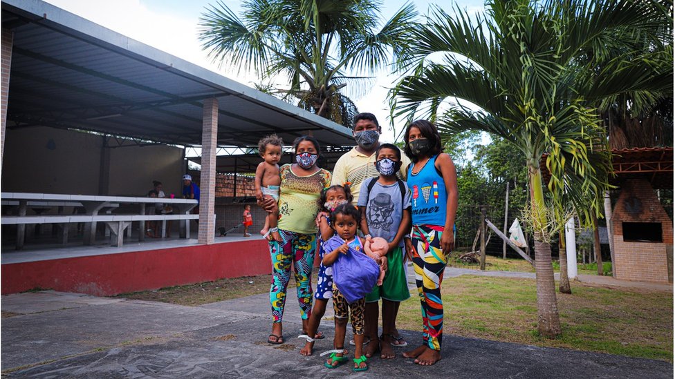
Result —
[[[13, 32], [7, 128], [51, 126], [202, 144], [203, 99], [219, 103], [218, 146], [277, 133], [353, 144], [351, 130], [42, 1], [3, 0]], [[3, 75], [6, 75], [3, 73]]]

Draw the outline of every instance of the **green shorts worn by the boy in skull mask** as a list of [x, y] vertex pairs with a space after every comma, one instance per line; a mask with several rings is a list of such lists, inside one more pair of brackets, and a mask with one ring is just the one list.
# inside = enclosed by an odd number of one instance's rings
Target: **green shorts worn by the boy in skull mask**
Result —
[[376, 285], [373, 291], [366, 295], [366, 302], [377, 302], [380, 298], [392, 302], [402, 302], [410, 297], [408, 280], [403, 264], [403, 249], [399, 246], [387, 253], [387, 272], [382, 285]]

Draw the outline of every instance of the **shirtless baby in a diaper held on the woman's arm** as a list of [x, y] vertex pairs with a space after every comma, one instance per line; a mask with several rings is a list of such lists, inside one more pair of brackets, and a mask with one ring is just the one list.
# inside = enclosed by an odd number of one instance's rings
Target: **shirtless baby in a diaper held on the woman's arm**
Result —
[[[263, 157], [263, 162], [255, 170], [255, 197], [257, 200], [262, 200], [265, 196], [279, 200], [281, 176], [279, 175], [278, 163], [281, 159], [282, 146], [284, 146], [284, 142], [275, 134], [268, 135], [258, 142], [258, 152]], [[277, 229], [278, 218], [279, 211], [267, 215], [265, 226], [260, 231], [260, 234], [267, 240], [281, 242], [281, 235], [279, 235], [279, 229]]]

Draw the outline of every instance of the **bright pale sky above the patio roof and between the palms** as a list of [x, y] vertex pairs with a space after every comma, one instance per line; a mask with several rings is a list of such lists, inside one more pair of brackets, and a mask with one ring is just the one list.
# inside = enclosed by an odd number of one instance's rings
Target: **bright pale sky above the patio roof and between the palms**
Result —
[[[45, 0], [54, 6], [89, 19], [105, 28], [109, 28], [132, 39], [136, 39], [171, 55], [180, 57], [198, 66], [202, 66], [220, 75], [253, 86], [258, 82], [252, 73], [237, 75], [227, 68], [219, 68], [201, 50], [198, 35], [198, 18], [216, 0]], [[241, 14], [241, 1], [220, 0], [235, 14]], [[454, 4], [451, 0], [411, 1], [420, 14], [426, 14], [431, 4], [443, 6], [449, 10]], [[403, 0], [383, 1], [382, 19], [389, 19], [396, 10], [405, 4]], [[483, 0], [459, 0], [456, 4], [469, 12], [481, 12]], [[396, 76], [382, 72], [370, 90], [354, 97], [360, 112], [376, 115], [382, 125], [382, 142], [394, 142], [395, 136], [403, 125], [389, 128], [389, 107], [387, 90], [393, 86]], [[395, 135], [396, 133], [396, 135]]]

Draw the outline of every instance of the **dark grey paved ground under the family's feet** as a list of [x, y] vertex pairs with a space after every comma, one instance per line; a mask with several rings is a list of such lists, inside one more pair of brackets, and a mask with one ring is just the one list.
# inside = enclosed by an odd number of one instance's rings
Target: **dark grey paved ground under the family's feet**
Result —
[[[8, 378], [673, 378], [668, 362], [447, 334], [433, 367], [395, 349], [394, 360], [371, 358], [369, 371], [326, 369], [318, 353], [331, 349], [332, 322], [322, 323], [327, 338], [315, 354], [300, 356], [296, 301], [289, 296], [286, 343], [270, 345], [266, 294], [202, 307], [54, 291], [3, 295], [2, 311], [21, 315], [2, 320], [1, 369]], [[411, 345], [421, 338], [401, 333]]]

